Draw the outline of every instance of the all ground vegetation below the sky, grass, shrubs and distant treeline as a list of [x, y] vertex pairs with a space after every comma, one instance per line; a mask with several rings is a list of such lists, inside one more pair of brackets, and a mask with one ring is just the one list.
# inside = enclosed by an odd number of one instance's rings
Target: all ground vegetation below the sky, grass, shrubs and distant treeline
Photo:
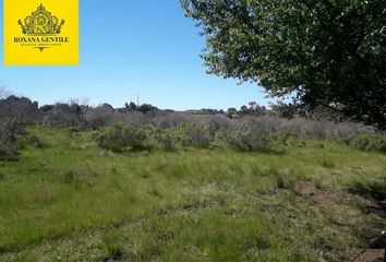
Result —
[[140, 108], [0, 99], [0, 261], [342, 261], [386, 226], [372, 127]]

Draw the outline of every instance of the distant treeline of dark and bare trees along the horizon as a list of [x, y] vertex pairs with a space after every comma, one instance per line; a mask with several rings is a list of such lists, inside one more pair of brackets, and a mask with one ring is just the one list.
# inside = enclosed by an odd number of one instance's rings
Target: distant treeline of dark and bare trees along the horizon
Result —
[[[1, 98], [1, 97], [0, 97]], [[349, 119], [334, 115], [321, 108], [310, 114], [305, 108], [294, 103], [278, 103], [267, 109], [255, 102], [241, 106], [240, 109], [230, 107], [227, 110], [198, 109], [174, 111], [159, 109], [150, 104], [136, 105], [125, 103], [122, 108], [113, 108], [109, 104], [97, 107], [86, 105], [80, 99], [70, 99], [67, 103], [56, 103], [39, 107], [38, 102], [26, 97], [7, 96], [0, 99], [0, 119], [19, 118], [26, 122], [39, 122], [51, 126], [67, 126], [81, 128], [98, 128], [112, 122], [124, 122], [132, 126], [174, 127], [181, 122], [197, 124], [228, 124], [230, 120], [244, 117], [272, 117], [285, 119], [312, 119], [317, 121], [349, 122]]]

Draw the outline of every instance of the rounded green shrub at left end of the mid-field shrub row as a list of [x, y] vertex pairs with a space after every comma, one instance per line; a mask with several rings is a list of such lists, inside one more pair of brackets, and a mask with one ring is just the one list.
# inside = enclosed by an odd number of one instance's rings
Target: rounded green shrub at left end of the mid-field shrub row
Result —
[[113, 123], [96, 133], [98, 146], [116, 153], [135, 152], [147, 148], [146, 134], [141, 128]]

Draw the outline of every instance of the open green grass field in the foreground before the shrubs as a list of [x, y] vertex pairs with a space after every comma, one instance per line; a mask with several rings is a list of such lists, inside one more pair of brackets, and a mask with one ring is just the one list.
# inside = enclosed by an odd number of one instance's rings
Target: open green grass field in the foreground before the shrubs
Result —
[[334, 141], [122, 155], [29, 132], [45, 146], [0, 163], [0, 261], [341, 261], [386, 224], [386, 156]]

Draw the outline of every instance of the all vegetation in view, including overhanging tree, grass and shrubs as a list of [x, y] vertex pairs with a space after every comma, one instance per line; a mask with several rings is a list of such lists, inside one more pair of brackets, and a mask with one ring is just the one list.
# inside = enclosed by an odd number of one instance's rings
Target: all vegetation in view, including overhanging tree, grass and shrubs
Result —
[[338, 262], [370, 242], [381, 261], [384, 0], [180, 1], [212, 73], [295, 97], [39, 107], [0, 86], [0, 261]]

